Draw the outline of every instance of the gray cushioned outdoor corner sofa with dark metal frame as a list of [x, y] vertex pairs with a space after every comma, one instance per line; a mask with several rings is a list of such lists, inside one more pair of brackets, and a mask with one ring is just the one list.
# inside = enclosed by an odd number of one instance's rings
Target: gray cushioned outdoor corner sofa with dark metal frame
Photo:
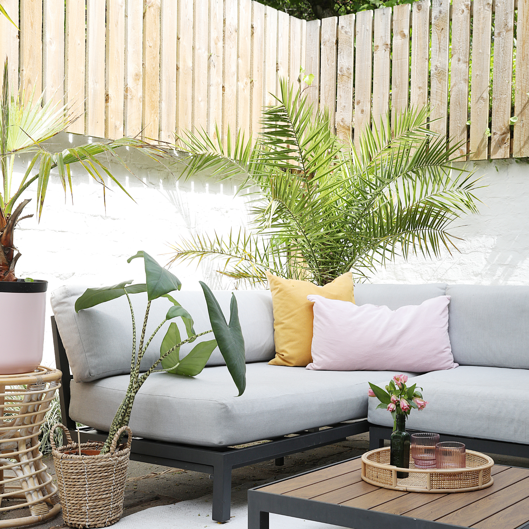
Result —
[[[122, 297], [76, 314], [75, 300], [84, 289], [62, 287], [51, 296], [56, 361], [63, 372], [61, 411], [69, 428], [75, 428], [74, 421], [88, 426], [83, 440], [103, 440], [129, 381], [130, 310]], [[391, 309], [445, 294], [451, 296], [449, 334], [460, 367], [407, 373], [418, 375], [412, 382], [423, 387], [430, 402], [425, 411], [412, 413], [408, 428], [438, 432], [443, 440], [465, 437], [471, 449], [529, 457], [524, 398], [529, 387], [529, 287], [354, 287], [357, 304]], [[215, 295], [228, 315], [231, 293]], [[285, 455], [368, 430], [371, 448], [381, 446], [391, 434], [390, 415], [375, 411], [375, 399], [367, 397], [368, 381], [387, 384], [395, 374], [269, 366], [275, 353], [270, 293], [238, 290], [235, 296], [247, 355], [244, 394], [235, 396], [235, 385], [216, 350], [197, 377], [151, 375], [136, 396], [130, 422], [135, 437], [132, 459], [212, 475], [213, 519], [220, 522], [230, 518], [232, 468], [270, 459], [282, 464]], [[202, 292], [181, 291], [177, 298], [194, 317], [197, 332], [209, 329]], [[132, 299], [138, 321], [145, 298]], [[168, 306], [166, 299], [152, 304], [148, 335]], [[183, 326], [180, 330], [184, 334]], [[142, 369], [159, 357], [164, 334], [162, 330], [151, 343]], [[261, 440], [269, 442], [240, 447]]]

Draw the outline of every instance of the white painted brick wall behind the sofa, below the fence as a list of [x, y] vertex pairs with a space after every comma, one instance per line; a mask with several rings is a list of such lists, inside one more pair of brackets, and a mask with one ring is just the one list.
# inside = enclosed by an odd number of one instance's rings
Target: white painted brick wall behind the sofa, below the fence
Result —
[[[77, 137], [76, 137], [77, 138]], [[59, 139], [69, 145], [67, 136]], [[59, 149], [61, 147], [57, 147]], [[115, 167], [135, 203], [113, 184], [107, 192], [106, 214], [102, 188], [89, 183], [88, 175], [74, 173], [74, 205], [64, 202], [57, 176], [52, 177], [40, 224], [32, 218], [21, 222], [16, 244], [23, 256], [17, 264], [19, 277], [47, 279], [49, 292], [66, 284], [112, 285], [134, 278], [143, 280], [142, 261], [127, 264], [127, 257], [145, 250], [165, 264], [168, 243], [191, 233], [227, 233], [248, 223], [244, 197], [234, 197], [234, 185], [197, 178], [177, 185], [170, 172], [129, 153], [127, 163], [136, 176]], [[17, 159], [25, 171], [27, 161]], [[477, 191], [480, 214], [467, 217], [452, 231], [464, 241], [457, 251], [440, 260], [397, 259], [372, 278], [381, 283], [474, 283], [529, 285], [529, 165], [514, 160], [479, 162], [477, 175], [487, 186]], [[143, 184], [145, 179], [146, 184]], [[160, 183], [161, 180], [161, 183]], [[206, 192], [207, 185], [207, 192]], [[34, 197], [34, 195], [28, 195]], [[28, 209], [35, 207], [35, 199]], [[227, 287], [215, 266], [204, 263], [177, 265], [172, 271], [187, 290], [199, 289], [204, 279], [213, 288]], [[51, 315], [48, 307], [47, 321]], [[47, 324], [44, 363], [54, 364], [51, 329]]]

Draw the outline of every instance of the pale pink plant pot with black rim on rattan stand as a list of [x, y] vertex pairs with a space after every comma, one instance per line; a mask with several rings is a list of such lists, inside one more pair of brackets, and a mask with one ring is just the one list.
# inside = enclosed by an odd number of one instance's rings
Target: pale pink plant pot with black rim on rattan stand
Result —
[[48, 281], [0, 281], [0, 375], [34, 371], [42, 361]]

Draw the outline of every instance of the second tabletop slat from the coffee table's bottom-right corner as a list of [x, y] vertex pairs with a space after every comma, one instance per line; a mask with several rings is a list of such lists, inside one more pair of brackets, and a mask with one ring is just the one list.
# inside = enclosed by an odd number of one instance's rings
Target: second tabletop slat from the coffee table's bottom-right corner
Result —
[[[486, 498], [443, 516], [437, 519], [437, 522], [471, 527], [527, 497], [529, 497], [529, 478], [518, 481]], [[529, 518], [529, 513], [526, 513], [526, 516]]]

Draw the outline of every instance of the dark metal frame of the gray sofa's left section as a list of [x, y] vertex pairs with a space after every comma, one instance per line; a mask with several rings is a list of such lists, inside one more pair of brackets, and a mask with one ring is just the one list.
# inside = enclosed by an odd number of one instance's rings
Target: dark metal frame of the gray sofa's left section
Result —
[[[73, 434], [76, 424], [69, 416], [70, 407], [70, 364], [61, 337], [51, 317], [53, 345], [57, 369], [62, 371], [59, 397], [63, 424]], [[326, 426], [326, 427], [325, 427]], [[344, 441], [346, 437], [369, 431], [367, 419], [350, 423], [323, 425], [303, 432], [292, 432], [294, 436], [282, 436], [243, 448], [207, 448], [177, 443], [166, 443], [134, 437], [131, 446], [131, 459], [145, 463], [159, 464], [166, 467], [204, 472], [213, 478], [213, 513], [216, 522], [227, 522], [230, 519], [231, 472], [234, 468], [246, 467], [261, 461], [276, 460], [276, 465], [284, 464], [285, 455], [303, 452]], [[85, 427], [80, 429], [81, 442], [104, 441], [108, 432], [101, 432]], [[77, 434], [76, 434], [77, 435]]]

